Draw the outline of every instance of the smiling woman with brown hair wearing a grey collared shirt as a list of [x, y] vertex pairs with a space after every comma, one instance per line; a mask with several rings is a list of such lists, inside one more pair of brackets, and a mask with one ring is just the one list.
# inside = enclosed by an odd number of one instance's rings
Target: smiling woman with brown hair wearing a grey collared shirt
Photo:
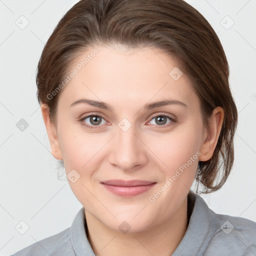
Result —
[[45, 44], [36, 84], [52, 155], [83, 207], [14, 255], [256, 255], [256, 223], [197, 194], [227, 179], [237, 124], [223, 48], [197, 10], [81, 0]]

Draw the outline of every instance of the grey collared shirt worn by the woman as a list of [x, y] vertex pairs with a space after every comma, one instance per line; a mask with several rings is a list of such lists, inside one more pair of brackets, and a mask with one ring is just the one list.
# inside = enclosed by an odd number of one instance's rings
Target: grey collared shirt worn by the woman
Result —
[[[189, 209], [186, 233], [172, 256], [256, 256], [256, 222], [217, 214], [193, 193], [188, 197]], [[70, 227], [12, 256], [94, 256], [86, 228], [82, 207]]]

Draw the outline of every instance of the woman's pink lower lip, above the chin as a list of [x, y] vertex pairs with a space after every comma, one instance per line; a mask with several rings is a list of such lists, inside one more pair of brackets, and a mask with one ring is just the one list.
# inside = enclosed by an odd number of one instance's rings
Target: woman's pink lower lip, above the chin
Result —
[[156, 183], [152, 183], [150, 185], [141, 185], [141, 186], [113, 186], [104, 184], [104, 187], [108, 189], [110, 192], [123, 196], [123, 197], [130, 197], [134, 195], [141, 194], [146, 192], [147, 190], [151, 189]]

